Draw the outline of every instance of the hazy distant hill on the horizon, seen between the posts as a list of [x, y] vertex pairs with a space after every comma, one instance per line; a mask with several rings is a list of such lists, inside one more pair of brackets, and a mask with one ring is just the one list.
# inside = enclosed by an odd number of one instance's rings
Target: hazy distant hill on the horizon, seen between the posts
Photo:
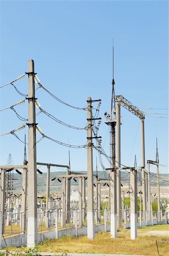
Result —
[[[85, 173], [85, 172], [81, 172]], [[64, 175], [66, 172], [51, 172], [50, 173], [50, 191], [56, 192], [62, 190], [62, 182], [59, 182], [57, 179], [54, 181], [51, 181], [54, 176], [56, 175]], [[99, 179], [108, 179], [109, 174], [103, 171], [98, 172]], [[157, 174], [152, 174], [151, 177], [151, 187], [157, 187]], [[160, 174], [160, 186], [162, 187], [168, 187], [169, 185], [169, 175], [168, 174]], [[140, 174], [138, 174], [138, 180], [140, 179]], [[86, 180], [87, 181], [87, 180]], [[94, 172], [94, 181], [95, 181], [95, 172]], [[45, 192], [46, 191], [46, 184], [47, 184], [47, 174], [37, 174], [37, 191], [39, 192]], [[129, 184], [129, 174], [127, 172], [122, 171], [121, 172], [121, 184], [127, 185]], [[78, 187], [78, 179], [77, 182], [75, 182], [73, 179], [71, 179], [71, 187]], [[19, 175], [17, 173], [14, 173], [14, 189], [21, 189], [22, 188], [22, 175]]]

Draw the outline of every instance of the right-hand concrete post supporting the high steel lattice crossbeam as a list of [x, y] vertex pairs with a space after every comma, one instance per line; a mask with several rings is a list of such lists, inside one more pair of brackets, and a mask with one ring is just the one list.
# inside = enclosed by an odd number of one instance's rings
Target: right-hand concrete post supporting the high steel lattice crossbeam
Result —
[[142, 167], [142, 202], [143, 220], [146, 219], [146, 180], [145, 180], [145, 129], [144, 119], [141, 119], [141, 167]]

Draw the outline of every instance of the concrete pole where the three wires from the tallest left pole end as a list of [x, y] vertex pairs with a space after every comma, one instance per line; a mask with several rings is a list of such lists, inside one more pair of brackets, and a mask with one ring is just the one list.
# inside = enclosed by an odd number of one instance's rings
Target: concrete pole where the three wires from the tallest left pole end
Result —
[[91, 97], [87, 98], [87, 238], [94, 239], [94, 181], [92, 159], [92, 106]]

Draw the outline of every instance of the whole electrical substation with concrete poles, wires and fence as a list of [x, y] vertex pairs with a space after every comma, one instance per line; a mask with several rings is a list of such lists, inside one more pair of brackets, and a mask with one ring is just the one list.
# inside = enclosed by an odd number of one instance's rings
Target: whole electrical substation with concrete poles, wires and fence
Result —
[[[114, 72], [113, 72], [114, 73]], [[112, 79], [112, 97], [111, 97], [111, 113], [105, 112], [106, 125], [110, 127], [111, 138], [111, 154], [107, 155], [102, 147], [102, 137], [98, 135], [99, 126], [101, 123], [99, 115], [99, 108], [101, 100], [92, 100], [91, 97], [87, 98], [87, 107], [78, 108], [67, 104], [66, 102], [58, 99], [53, 93], [49, 92], [43, 85], [40, 84], [38, 77], [34, 71], [34, 61], [28, 61], [28, 72], [18, 79], [6, 84], [13, 85], [13, 83], [24, 76], [28, 76], [28, 95], [26, 99], [19, 101], [17, 104], [7, 107], [5, 109], [12, 109], [19, 119], [20, 115], [15, 111], [14, 106], [28, 101], [28, 119], [22, 118], [22, 121], [27, 121], [28, 127], [28, 160], [26, 154], [26, 136], [24, 143], [24, 161], [22, 165], [14, 165], [11, 162], [11, 157], [6, 166], [1, 168], [1, 184], [0, 184], [0, 246], [5, 247], [13, 245], [11, 241], [17, 241], [17, 245], [22, 244], [28, 247], [34, 247], [36, 242], [44, 241], [46, 238], [58, 238], [71, 234], [75, 237], [87, 234], [89, 240], [94, 240], [95, 233], [100, 231], [110, 231], [111, 237], [117, 237], [117, 229], [124, 221], [125, 228], [130, 227], [130, 238], [132, 240], [137, 238], [137, 226], [162, 224], [166, 221], [162, 210], [160, 209], [160, 191], [159, 191], [159, 159], [158, 147], [156, 152], [156, 160], [147, 160], [147, 170], [145, 168], [145, 134], [144, 134], [144, 120], [145, 114], [141, 112], [131, 102], [126, 100], [123, 96], [115, 96], [115, 80], [114, 74]], [[35, 82], [38, 87], [35, 89]], [[0, 88], [6, 86], [0, 86]], [[13, 85], [14, 86], [14, 85]], [[14, 86], [15, 87], [15, 86]], [[87, 126], [75, 127], [60, 121], [54, 115], [48, 113], [40, 107], [39, 102], [35, 96], [37, 89], [43, 89], [55, 100], [61, 104], [65, 104], [70, 108], [85, 110], [87, 112]], [[16, 92], [19, 90], [15, 87]], [[20, 94], [20, 92], [19, 92]], [[94, 114], [93, 104], [98, 103], [96, 113]], [[36, 123], [36, 110], [35, 106], [39, 108], [39, 113], [44, 113], [49, 118], [53, 119], [71, 129], [86, 130], [87, 143], [81, 146], [66, 144], [48, 137], [40, 130]], [[141, 167], [137, 167], [136, 157], [134, 167], [128, 167], [121, 164], [121, 106], [129, 112], [140, 118], [141, 121]], [[5, 110], [3, 109], [3, 110]], [[1, 110], [2, 111], [2, 110]], [[96, 122], [97, 125], [96, 125]], [[18, 138], [15, 134], [16, 131], [26, 127], [26, 125], [19, 126], [17, 129], [8, 133]], [[36, 131], [39, 131], [41, 138], [36, 140]], [[70, 151], [69, 151], [69, 164], [58, 163], [43, 163], [38, 162], [36, 159], [36, 144], [41, 139], [49, 139], [57, 144], [73, 148], [87, 148], [87, 171], [83, 174], [75, 172], [70, 167]], [[18, 138], [19, 139], [19, 138]], [[21, 141], [19, 139], [19, 141]], [[108, 173], [109, 176], [105, 179], [99, 179], [98, 164], [96, 160], [96, 175], [94, 180], [93, 170], [93, 149], [98, 152], [100, 165], [103, 168], [104, 175]], [[102, 162], [102, 155], [108, 160], [109, 168], [105, 168]], [[158, 213], [157, 216], [153, 213], [152, 209], [152, 195], [150, 187], [150, 164], [157, 166], [157, 195], [158, 195]], [[47, 187], [46, 187], [46, 200], [44, 195], [37, 192], [37, 172], [42, 174], [39, 166], [47, 168]], [[121, 167], [122, 166], [122, 167]], [[61, 167], [65, 169], [66, 174], [56, 175], [50, 179], [50, 167]], [[19, 170], [23, 170], [20, 172]], [[124, 191], [121, 192], [121, 171], [128, 171], [130, 174], [129, 191], [130, 209], [126, 209], [124, 205], [125, 195]], [[137, 171], [142, 173], [142, 191], [137, 193]], [[14, 194], [14, 171], [22, 174], [22, 193], [20, 191]], [[57, 187], [57, 181], [62, 183], [62, 192], [60, 196], [50, 194], [50, 185], [54, 184]], [[77, 199], [71, 199], [71, 181], [78, 182]], [[107, 185], [109, 193], [109, 206], [108, 209], [101, 209], [101, 185]], [[95, 188], [95, 200], [94, 200]], [[86, 193], [87, 189], [87, 193]], [[87, 194], [87, 201], [86, 201]], [[121, 196], [122, 194], [122, 196]], [[137, 196], [140, 197], [140, 214], [137, 216]], [[12, 200], [11, 200], [12, 198]], [[122, 201], [121, 201], [122, 198]], [[40, 200], [40, 203], [39, 203]], [[142, 211], [143, 202], [143, 211]], [[11, 203], [13, 207], [11, 207]], [[138, 223], [138, 219], [140, 224]], [[14, 231], [12, 225], [18, 228], [17, 236], [13, 236]], [[8, 226], [8, 227], [7, 227]], [[11, 237], [4, 238], [7, 230], [11, 226]], [[63, 229], [64, 228], [64, 229]], [[9, 234], [8, 234], [9, 235]], [[4, 238], [4, 239], [3, 239]]]

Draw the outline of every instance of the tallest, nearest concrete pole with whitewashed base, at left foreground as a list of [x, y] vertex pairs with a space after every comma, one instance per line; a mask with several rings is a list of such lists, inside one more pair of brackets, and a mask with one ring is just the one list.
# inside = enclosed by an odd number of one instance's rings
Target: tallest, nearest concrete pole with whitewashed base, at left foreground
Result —
[[37, 241], [37, 176], [34, 62], [28, 61], [28, 229], [27, 246]]

